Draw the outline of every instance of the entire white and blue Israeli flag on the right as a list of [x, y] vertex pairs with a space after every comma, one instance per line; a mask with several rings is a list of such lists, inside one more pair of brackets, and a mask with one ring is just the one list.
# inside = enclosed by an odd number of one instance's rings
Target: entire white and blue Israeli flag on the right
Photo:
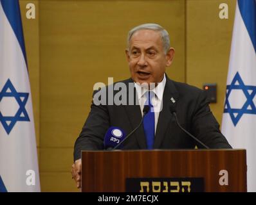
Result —
[[238, 0], [226, 83], [222, 133], [246, 149], [247, 189], [256, 192], [256, 0]]

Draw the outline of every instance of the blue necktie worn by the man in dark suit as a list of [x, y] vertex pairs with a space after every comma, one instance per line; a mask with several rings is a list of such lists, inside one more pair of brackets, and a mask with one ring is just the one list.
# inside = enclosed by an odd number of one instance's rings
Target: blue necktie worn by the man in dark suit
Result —
[[154, 106], [152, 105], [152, 97], [154, 97], [154, 95], [152, 91], [145, 93], [147, 97], [145, 105], [149, 105], [151, 108], [143, 120], [144, 133], [147, 138], [147, 149], [153, 149], [154, 145]]

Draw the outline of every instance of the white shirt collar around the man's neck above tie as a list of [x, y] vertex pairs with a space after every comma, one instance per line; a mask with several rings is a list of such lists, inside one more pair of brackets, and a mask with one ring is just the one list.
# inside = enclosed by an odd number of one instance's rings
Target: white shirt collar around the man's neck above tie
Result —
[[[156, 94], [156, 97], [158, 97], [158, 99], [160, 99], [160, 101], [163, 99], [163, 90], [165, 90], [165, 84], [166, 84], [166, 77], [164, 74], [162, 81], [160, 83], [158, 83], [158, 85], [156, 87], [151, 89], [151, 91], [154, 92], [154, 94]], [[139, 83], [134, 82], [134, 86], [136, 88], [136, 92], [138, 94], [139, 99], [143, 97], [145, 92], [149, 91], [148, 88], [141, 86]]]

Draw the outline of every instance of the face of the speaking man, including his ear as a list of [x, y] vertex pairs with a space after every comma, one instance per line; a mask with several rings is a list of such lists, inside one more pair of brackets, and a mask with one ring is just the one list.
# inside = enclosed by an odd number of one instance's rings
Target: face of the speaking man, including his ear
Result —
[[159, 31], [143, 29], [131, 37], [129, 52], [126, 51], [131, 78], [136, 83], [160, 83], [165, 68], [172, 63], [174, 49], [167, 54]]

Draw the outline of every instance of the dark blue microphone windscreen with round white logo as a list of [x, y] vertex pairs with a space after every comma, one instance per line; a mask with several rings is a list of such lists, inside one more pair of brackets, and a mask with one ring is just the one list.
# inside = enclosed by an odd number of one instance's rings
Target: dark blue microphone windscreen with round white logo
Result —
[[[123, 129], [120, 127], [109, 127], [104, 137], [104, 149], [116, 147], [116, 145], [123, 141], [125, 136], [125, 131], [123, 131]], [[122, 148], [122, 145], [120, 148]]]

